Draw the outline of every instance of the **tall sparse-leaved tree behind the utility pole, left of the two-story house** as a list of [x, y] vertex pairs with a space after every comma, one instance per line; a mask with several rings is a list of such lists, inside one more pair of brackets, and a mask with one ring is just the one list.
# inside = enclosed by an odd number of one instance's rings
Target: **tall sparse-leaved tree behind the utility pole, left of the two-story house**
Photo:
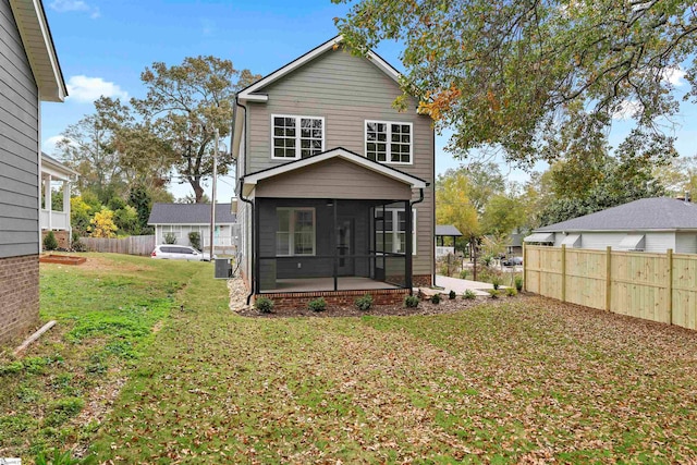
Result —
[[[148, 93], [132, 99], [156, 138], [171, 150], [173, 168], [203, 201], [201, 181], [212, 173], [213, 134], [230, 134], [235, 91], [260, 76], [237, 71], [232, 61], [216, 57], [185, 58], [182, 64], [167, 66], [155, 62], [140, 78]], [[220, 154], [219, 172], [225, 174], [231, 154]]]

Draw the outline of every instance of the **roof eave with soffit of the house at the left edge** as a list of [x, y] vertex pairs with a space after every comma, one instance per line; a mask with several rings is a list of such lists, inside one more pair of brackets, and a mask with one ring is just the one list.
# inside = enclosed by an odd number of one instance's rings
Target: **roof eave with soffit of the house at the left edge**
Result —
[[58, 62], [44, 4], [40, 0], [10, 0], [10, 7], [41, 100], [65, 100], [68, 88]]

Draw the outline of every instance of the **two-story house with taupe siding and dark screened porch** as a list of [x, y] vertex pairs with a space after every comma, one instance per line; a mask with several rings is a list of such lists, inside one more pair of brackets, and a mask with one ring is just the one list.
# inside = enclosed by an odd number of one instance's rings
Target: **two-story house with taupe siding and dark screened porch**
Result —
[[240, 270], [283, 305], [401, 301], [433, 273], [431, 120], [335, 37], [237, 94]]

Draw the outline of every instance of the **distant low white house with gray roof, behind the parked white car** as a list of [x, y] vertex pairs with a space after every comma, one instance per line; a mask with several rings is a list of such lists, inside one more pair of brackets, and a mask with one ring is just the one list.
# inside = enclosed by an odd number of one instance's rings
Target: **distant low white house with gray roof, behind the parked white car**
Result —
[[[216, 204], [213, 246], [219, 253], [231, 253], [234, 240], [234, 204]], [[155, 227], [156, 244], [164, 244], [167, 234], [174, 234], [176, 244], [191, 245], [188, 233], [200, 234], [200, 246], [210, 246], [210, 204], [155, 204], [148, 224]]]

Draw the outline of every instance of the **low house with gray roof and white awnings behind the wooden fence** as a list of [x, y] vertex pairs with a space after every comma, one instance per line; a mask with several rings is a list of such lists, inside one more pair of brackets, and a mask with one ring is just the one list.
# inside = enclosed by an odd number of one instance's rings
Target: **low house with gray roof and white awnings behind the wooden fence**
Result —
[[536, 229], [526, 243], [561, 247], [697, 254], [697, 205], [643, 198]]

